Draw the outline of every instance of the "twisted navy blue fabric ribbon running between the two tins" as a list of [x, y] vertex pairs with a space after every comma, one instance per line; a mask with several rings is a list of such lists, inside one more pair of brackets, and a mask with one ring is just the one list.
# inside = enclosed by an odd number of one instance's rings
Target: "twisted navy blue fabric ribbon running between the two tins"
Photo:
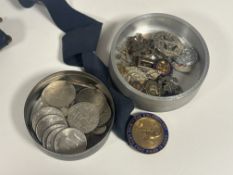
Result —
[[[24, 7], [31, 7], [36, 0], [19, 0]], [[134, 109], [131, 99], [122, 95], [113, 85], [108, 68], [95, 51], [102, 23], [71, 8], [65, 0], [41, 0], [54, 23], [64, 31], [62, 38], [63, 59], [66, 64], [84, 67], [85, 71], [99, 78], [113, 96], [116, 109], [115, 131], [125, 139], [125, 129]]]

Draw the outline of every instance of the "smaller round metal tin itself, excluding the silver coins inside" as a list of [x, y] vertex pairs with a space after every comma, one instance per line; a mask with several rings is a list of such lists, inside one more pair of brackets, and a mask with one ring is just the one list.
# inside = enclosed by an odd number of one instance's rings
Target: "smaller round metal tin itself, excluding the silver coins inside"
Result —
[[[94, 86], [94, 87], [98, 88], [102, 93], [104, 93], [104, 95], [106, 96], [107, 101], [112, 109], [112, 116], [111, 116], [111, 120], [107, 124], [107, 131], [102, 136], [89, 138], [91, 140], [90, 140], [90, 143], [88, 144], [87, 150], [85, 152], [77, 153], [77, 154], [60, 154], [60, 153], [51, 152], [51, 151], [45, 149], [41, 145], [41, 143], [39, 142], [39, 140], [36, 137], [35, 132], [32, 129], [31, 112], [32, 112], [33, 104], [40, 97], [43, 89], [49, 83], [51, 83], [53, 81], [57, 81], [57, 80], [67, 80], [67, 81], [72, 81], [72, 82], [76, 82], [76, 83], [84, 83], [84, 84], [88, 84], [88, 86]], [[96, 77], [94, 77], [90, 74], [87, 74], [85, 72], [78, 72], [78, 71], [61, 71], [61, 72], [57, 72], [57, 73], [54, 73], [52, 75], [49, 75], [48, 77], [41, 80], [37, 85], [35, 85], [35, 87], [30, 92], [30, 94], [26, 100], [25, 108], [24, 108], [25, 123], [26, 123], [27, 129], [28, 129], [28, 132], [30, 133], [32, 139], [35, 141], [36, 145], [41, 150], [43, 150], [45, 153], [47, 153], [48, 155], [55, 157], [55, 158], [58, 158], [58, 159], [62, 159], [62, 160], [78, 160], [78, 159], [82, 159], [82, 158], [85, 158], [87, 156], [90, 156], [91, 154], [98, 151], [103, 146], [103, 144], [106, 142], [106, 140], [109, 136], [109, 133], [112, 130], [113, 123], [114, 123], [114, 117], [115, 117], [115, 109], [114, 109], [113, 99], [112, 99], [110, 92], [105, 87], [105, 85]]]

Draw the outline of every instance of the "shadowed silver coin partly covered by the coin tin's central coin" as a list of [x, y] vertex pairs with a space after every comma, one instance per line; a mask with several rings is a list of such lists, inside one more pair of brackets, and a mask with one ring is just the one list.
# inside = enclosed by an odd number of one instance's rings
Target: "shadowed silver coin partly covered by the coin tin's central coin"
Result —
[[104, 110], [105, 103], [107, 103], [106, 97], [102, 92], [100, 92], [98, 89], [89, 88], [79, 91], [76, 101], [92, 103], [97, 107], [100, 113]]

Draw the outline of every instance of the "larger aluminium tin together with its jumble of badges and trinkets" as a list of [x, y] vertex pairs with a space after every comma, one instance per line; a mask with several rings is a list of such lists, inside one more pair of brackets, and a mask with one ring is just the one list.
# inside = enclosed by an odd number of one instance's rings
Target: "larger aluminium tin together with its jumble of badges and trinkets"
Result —
[[209, 68], [200, 33], [167, 14], [147, 14], [125, 24], [111, 48], [111, 77], [137, 107], [165, 112], [188, 103]]

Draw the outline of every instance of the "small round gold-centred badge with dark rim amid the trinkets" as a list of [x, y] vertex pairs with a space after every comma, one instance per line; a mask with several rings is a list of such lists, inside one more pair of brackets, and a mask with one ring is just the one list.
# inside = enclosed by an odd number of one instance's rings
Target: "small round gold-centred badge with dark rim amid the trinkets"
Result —
[[165, 59], [158, 60], [155, 63], [154, 68], [158, 71], [160, 75], [163, 76], [169, 75], [172, 72], [171, 64]]

